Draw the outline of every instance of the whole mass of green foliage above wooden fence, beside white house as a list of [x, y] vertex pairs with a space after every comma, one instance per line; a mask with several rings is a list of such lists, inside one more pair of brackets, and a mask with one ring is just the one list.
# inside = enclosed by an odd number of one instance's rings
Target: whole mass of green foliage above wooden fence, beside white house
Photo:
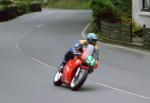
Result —
[[111, 23], [130, 24], [132, 22], [131, 0], [92, 0], [93, 22], [96, 24], [96, 32], [99, 32], [100, 21]]

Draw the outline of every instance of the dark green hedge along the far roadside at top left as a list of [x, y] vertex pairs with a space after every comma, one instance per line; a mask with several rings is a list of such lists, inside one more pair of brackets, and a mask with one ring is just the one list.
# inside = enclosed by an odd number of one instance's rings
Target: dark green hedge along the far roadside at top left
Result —
[[16, 2], [0, 5], [0, 21], [6, 21], [29, 12], [41, 11], [40, 2]]

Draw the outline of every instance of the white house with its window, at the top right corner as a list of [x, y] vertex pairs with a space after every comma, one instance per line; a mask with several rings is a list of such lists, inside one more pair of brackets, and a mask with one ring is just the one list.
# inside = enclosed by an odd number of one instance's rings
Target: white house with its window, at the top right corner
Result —
[[132, 0], [132, 18], [137, 24], [150, 28], [150, 0]]

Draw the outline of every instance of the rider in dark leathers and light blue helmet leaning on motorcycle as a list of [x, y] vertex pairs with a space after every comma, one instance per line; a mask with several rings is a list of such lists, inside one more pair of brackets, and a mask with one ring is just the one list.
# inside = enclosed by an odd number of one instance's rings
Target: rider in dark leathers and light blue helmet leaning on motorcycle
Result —
[[79, 40], [65, 53], [63, 61], [58, 68], [58, 71], [62, 72], [66, 63], [70, 59], [73, 59], [76, 55], [80, 55], [82, 52], [82, 48], [87, 44], [94, 45], [95, 48], [93, 56], [97, 61], [99, 61], [99, 46], [97, 44], [97, 36], [95, 33], [88, 33], [88, 35], [86, 36], [86, 40]]

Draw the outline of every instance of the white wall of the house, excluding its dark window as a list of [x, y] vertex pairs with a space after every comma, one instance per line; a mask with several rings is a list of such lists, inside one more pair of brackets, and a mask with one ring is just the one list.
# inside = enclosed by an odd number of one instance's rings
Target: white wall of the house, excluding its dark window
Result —
[[137, 24], [150, 28], [150, 12], [141, 11], [142, 5], [142, 0], [132, 0], [132, 18]]

